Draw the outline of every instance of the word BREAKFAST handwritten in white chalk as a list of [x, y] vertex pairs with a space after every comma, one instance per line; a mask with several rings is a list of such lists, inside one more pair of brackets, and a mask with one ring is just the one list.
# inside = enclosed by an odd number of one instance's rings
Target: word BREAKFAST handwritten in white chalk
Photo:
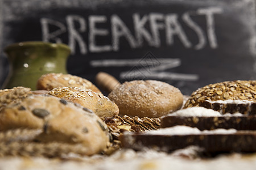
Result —
[[[86, 18], [80, 15], [65, 16], [66, 23], [61, 23], [57, 20], [42, 18], [40, 24], [42, 25], [42, 39], [44, 41], [62, 42], [61, 35], [68, 34], [68, 45], [72, 50], [72, 54], [76, 53], [76, 46], [79, 46], [80, 53], [101, 53], [101, 52], [117, 52], [120, 50], [121, 38], [125, 39], [131, 49], [142, 48], [145, 45], [159, 48], [162, 45], [175, 45], [174, 37], [176, 36], [183, 44], [184, 48], [192, 48], [195, 50], [203, 49], [207, 42], [212, 49], [218, 48], [218, 40], [214, 25], [214, 15], [222, 14], [221, 7], [198, 8], [195, 11], [187, 11], [183, 14], [162, 14], [162, 13], [148, 13], [140, 15], [135, 12], [131, 15], [133, 19], [133, 31], [131, 25], [129, 27], [117, 14], [109, 17], [105, 15], [89, 15], [88, 29], [86, 30]], [[192, 17], [204, 16], [205, 25], [196, 23]], [[111, 27], [99, 27], [98, 24], [110, 23]], [[183, 24], [181, 24], [183, 22]], [[65, 27], [67, 24], [67, 27]], [[146, 24], [149, 28], [146, 28]], [[186, 27], [195, 32], [197, 36], [197, 44], [189, 40], [189, 36], [185, 32]], [[54, 25], [59, 28], [55, 31], [50, 31], [49, 27]], [[75, 27], [79, 25], [79, 27]], [[206, 28], [204, 30], [203, 28]], [[165, 41], [160, 37], [160, 32], [165, 32]], [[88, 39], [85, 39], [85, 33], [88, 33]], [[96, 37], [110, 37], [108, 44], [98, 45]], [[207, 41], [208, 40], [208, 41]]]

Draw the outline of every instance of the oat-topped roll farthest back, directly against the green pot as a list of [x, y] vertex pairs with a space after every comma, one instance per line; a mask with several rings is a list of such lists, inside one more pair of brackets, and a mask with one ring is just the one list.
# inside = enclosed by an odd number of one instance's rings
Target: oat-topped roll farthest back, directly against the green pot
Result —
[[49, 73], [42, 75], [36, 84], [37, 90], [52, 90], [56, 87], [80, 87], [101, 92], [92, 82], [79, 76], [62, 73]]

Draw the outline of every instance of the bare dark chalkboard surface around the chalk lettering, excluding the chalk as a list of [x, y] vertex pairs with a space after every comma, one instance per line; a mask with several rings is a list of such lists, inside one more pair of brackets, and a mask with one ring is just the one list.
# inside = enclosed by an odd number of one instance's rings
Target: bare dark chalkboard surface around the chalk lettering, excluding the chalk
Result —
[[[214, 14], [214, 33], [216, 35], [217, 47], [212, 48], [207, 36], [207, 19], [205, 15], [198, 15], [195, 11], [200, 8], [216, 7], [221, 9], [220, 14]], [[3, 48], [13, 42], [21, 41], [42, 41], [42, 23], [40, 19], [46, 18], [64, 25], [65, 31], [57, 37], [64, 44], [69, 44], [69, 29], [67, 16], [76, 15], [85, 21], [85, 31], [80, 32], [86, 43], [86, 54], [82, 54], [76, 42], [73, 54], [68, 58], [67, 69], [70, 74], [78, 75], [89, 79], [94, 83], [94, 76], [99, 71], [112, 74], [124, 82], [133, 79], [158, 79], [170, 83], [186, 95], [190, 95], [197, 88], [210, 83], [222, 82], [225, 80], [248, 80], [255, 79], [255, 3], [254, 1], [240, 0], [184, 0], [184, 1], [14, 1], [0, 0], [0, 50], [1, 84], [9, 72], [8, 61], [3, 53]], [[199, 38], [195, 30], [186, 24], [182, 16], [190, 12], [191, 19], [203, 30], [205, 46], [195, 49]], [[89, 40], [89, 16], [103, 15], [106, 22], [96, 24], [98, 29], [106, 29], [109, 35], [96, 36], [97, 45], [112, 45], [113, 32], [111, 18], [118, 16], [129, 29], [135, 41], [133, 15], [139, 14], [150, 16], [160, 14], [165, 17], [168, 14], [178, 16], [177, 20], [183, 28], [185, 35], [191, 42], [191, 47], [186, 48], [179, 37], [174, 35], [174, 43], [166, 43], [166, 27], [159, 29], [160, 45], [154, 46], [142, 39], [142, 44], [133, 48], [125, 36], [119, 39], [119, 49], [109, 52], [90, 52]], [[75, 28], [79, 31], [81, 23], [74, 22]], [[159, 20], [163, 23], [164, 20]], [[149, 21], [144, 27], [152, 36]], [[49, 25], [49, 31], [59, 29], [55, 25]], [[50, 42], [56, 42], [53, 39]], [[162, 59], [177, 59], [179, 65], [167, 67], [163, 70], [154, 70], [155, 67], [163, 66], [166, 63]], [[129, 66], [93, 66], [94, 61], [137, 59], [137, 65]], [[144, 63], [151, 62], [148, 65]], [[154, 63], [152, 63], [154, 62]], [[147, 69], [143, 72], [142, 69]], [[140, 73], [136, 76], [128, 75], [137, 70]], [[145, 70], [144, 70], [145, 71]], [[125, 73], [124, 73], [125, 72]], [[123, 75], [125, 76], [122, 76]], [[161, 74], [162, 73], [162, 74]], [[175, 74], [174, 74], [175, 73]], [[171, 75], [177, 75], [171, 76]], [[191, 79], [182, 78], [182, 75], [191, 75]]]

